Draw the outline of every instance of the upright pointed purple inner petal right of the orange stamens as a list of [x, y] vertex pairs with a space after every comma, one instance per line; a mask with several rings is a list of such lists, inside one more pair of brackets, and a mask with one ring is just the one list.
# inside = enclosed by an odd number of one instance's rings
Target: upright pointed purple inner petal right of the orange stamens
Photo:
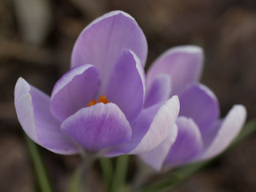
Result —
[[117, 104], [132, 124], [145, 99], [145, 73], [138, 57], [125, 50], [114, 66], [106, 88], [106, 98]]

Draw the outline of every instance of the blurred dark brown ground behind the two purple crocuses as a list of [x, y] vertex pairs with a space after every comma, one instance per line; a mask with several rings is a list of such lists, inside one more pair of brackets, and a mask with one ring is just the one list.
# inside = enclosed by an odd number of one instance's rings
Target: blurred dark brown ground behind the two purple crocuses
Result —
[[[78, 34], [110, 10], [128, 12], [142, 27], [149, 44], [147, 66], [172, 46], [202, 46], [202, 82], [218, 96], [222, 116], [242, 103], [247, 121], [256, 117], [254, 0], [0, 0], [1, 191], [33, 191], [35, 183], [14, 110], [18, 77], [50, 94], [54, 82], [69, 69]], [[256, 191], [255, 138], [256, 134], [246, 138], [173, 191]], [[54, 190], [64, 191], [78, 158], [40, 150]]]

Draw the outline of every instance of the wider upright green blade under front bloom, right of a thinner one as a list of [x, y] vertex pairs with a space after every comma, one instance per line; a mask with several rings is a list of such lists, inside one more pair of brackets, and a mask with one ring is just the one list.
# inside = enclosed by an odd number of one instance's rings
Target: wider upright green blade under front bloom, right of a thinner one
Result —
[[128, 168], [129, 156], [122, 155], [117, 158], [114, 178], [111, 190], [112, 192], [123, 191], [126, 183], [126, 173]]

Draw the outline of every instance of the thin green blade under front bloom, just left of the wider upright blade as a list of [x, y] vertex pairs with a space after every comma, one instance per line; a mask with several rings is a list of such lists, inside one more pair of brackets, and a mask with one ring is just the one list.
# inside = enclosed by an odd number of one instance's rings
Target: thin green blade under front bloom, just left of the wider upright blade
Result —
[[110, 158], [100, 158], [100, 166], [102, 168], [102, 178], [105, 184], [106, 191], [110, 190], [111, 181], [113, 178], [113, 165]]

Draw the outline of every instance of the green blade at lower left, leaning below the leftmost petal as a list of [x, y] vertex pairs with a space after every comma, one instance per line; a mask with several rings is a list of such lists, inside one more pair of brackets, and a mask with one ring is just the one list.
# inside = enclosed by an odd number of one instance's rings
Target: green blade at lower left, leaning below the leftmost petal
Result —
[[46, 168], [42, 162], [41, 155], [39, 154], [38, 146], [36, 146], [36, 144], [34, 144], [34, 142], [32, 142], [26, 135], [25, 138], [40, 190], [42, 192], [52, 192], [53, 190], [50, 186], [50, 181], [47, 177]]

